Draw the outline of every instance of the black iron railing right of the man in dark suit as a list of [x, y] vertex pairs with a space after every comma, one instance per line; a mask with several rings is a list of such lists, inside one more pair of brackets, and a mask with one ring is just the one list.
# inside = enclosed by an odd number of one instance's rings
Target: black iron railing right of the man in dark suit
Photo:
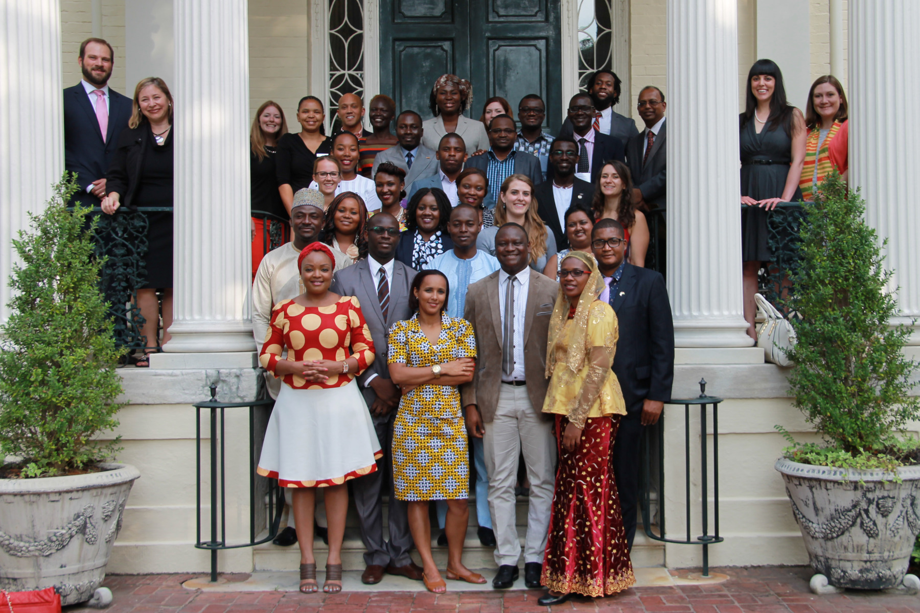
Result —
[[[646, 536], [650, 539], [660, 540], [666, 543], [678, 543], [682, 545], [702, 545], [703, 547], [703, 576], [709, 576], [709, 545], [722, 542], [719, 536], [719, 403], [721, 398], [706, 395], [706, 380], [699, 381], [700, 394], [696, 398], [686, 400], [674, 399], [667, 404], [684, 405], [684, 523], [686, 530], [685, 539], [671, 538], [666, 530], [665, 524], [665, 504], [664, 504], [664, 414], [658, 421], [656, 427], [645, 428], [645, 439], [642, 444], [641, 460], [639, 463], [639, 483], [641, 484], [642, 494], [640, 496], [640, 505], [642, 508], [642, 525]], [[700, 505], [699, 519], [703, 534], [696, 538], [693, 537], [692, 528], [692, 506], [693, 499], [690, 491], [690, 485], [693, 482], [694, 471], [692, 470], [690, 460], [690, 407], [699, 408], [699, 482], [700, 482]], [[709, 533], [709, 453], [708, 453], [708, 423], [707, 412], [712, 407], [712, 518], [713, 531]], [[657, 440], [653, 441], [652, 437]], [[657, 443], [654, 445], [653, 443]], [[652, 448], [657, 447], [657, 483], [653, 482], [652, 471]], [[670, 448], [673, 450], [673, 446]], [[673, 459], [671, 459], [673, 465]], [[656, 487], [657, 486], [657, 487]], [[651, 518], [651, 492], [658, 491], [658, 533], [652, 531]]]

